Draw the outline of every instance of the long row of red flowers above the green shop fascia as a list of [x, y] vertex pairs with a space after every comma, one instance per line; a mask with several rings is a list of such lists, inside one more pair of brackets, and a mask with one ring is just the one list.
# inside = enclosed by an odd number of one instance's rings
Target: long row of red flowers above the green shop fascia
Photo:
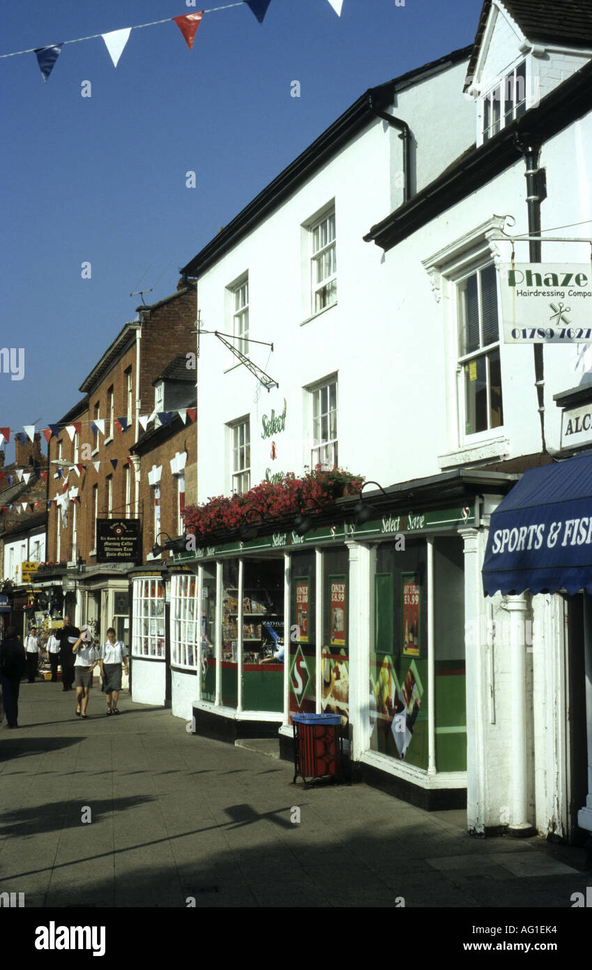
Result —
[[303, 478], [288, 472], [279, 482], [263, 481], [242, 495], [216, 496], [203, 505], [183, 509], [185, 531], [198, 538], [214, 533], [233, 533], [245, 523], [271, 526], [292, 519], [301, 511], [321, 511], [344, 494], [359, 492], [361, 475], [321, 465], [307, 470]]

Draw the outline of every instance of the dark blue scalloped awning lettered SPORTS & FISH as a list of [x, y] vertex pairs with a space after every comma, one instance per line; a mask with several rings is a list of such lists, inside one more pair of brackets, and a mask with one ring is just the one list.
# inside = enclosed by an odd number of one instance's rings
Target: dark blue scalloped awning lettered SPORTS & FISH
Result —
[[592, 593], [592, 455], [524, 472], [491, 516], [485, 596]]

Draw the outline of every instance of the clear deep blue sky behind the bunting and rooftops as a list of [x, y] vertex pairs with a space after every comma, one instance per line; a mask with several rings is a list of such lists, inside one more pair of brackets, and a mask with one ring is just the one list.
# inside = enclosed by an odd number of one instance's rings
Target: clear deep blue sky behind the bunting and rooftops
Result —
[[[24, 376], [0, 358], [0, 427], [59, 420], [135, 318], [133, 290], [173, 292], [179, 267], [363, 91], [471, 44], [481, 7], [343, 0], [338, 17], [327, 0], [271, 0], [263, 25], [246, 5], [204, 14], [192, 51], [173, 22], [133, 30], [116, 69], [101, 38], [62, 48], [47, 82], [34, 53], [1, 59], [0, 348], [24, 349]], [[0, 53], [197, 9], [3, 4]]]

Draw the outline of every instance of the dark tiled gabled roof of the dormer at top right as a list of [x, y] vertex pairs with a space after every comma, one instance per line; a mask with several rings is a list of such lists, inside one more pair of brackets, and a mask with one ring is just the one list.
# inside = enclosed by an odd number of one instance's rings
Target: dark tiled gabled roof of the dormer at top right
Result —
[[[475, 74], [492, 0], [479, 18], [467, 76]], [[592, 0], [501, 0], [527, 40], [566, 48], [592, 48]]]

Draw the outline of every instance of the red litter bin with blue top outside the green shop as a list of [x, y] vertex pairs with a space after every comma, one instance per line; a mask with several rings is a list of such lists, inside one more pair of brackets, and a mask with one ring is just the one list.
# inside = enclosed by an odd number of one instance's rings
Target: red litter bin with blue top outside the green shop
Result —
[[294, 763], [296, 785], [298, 775], [306, 786], [307, 778], [336, 780], [341, 774], [341, 715], [295, 714]]

